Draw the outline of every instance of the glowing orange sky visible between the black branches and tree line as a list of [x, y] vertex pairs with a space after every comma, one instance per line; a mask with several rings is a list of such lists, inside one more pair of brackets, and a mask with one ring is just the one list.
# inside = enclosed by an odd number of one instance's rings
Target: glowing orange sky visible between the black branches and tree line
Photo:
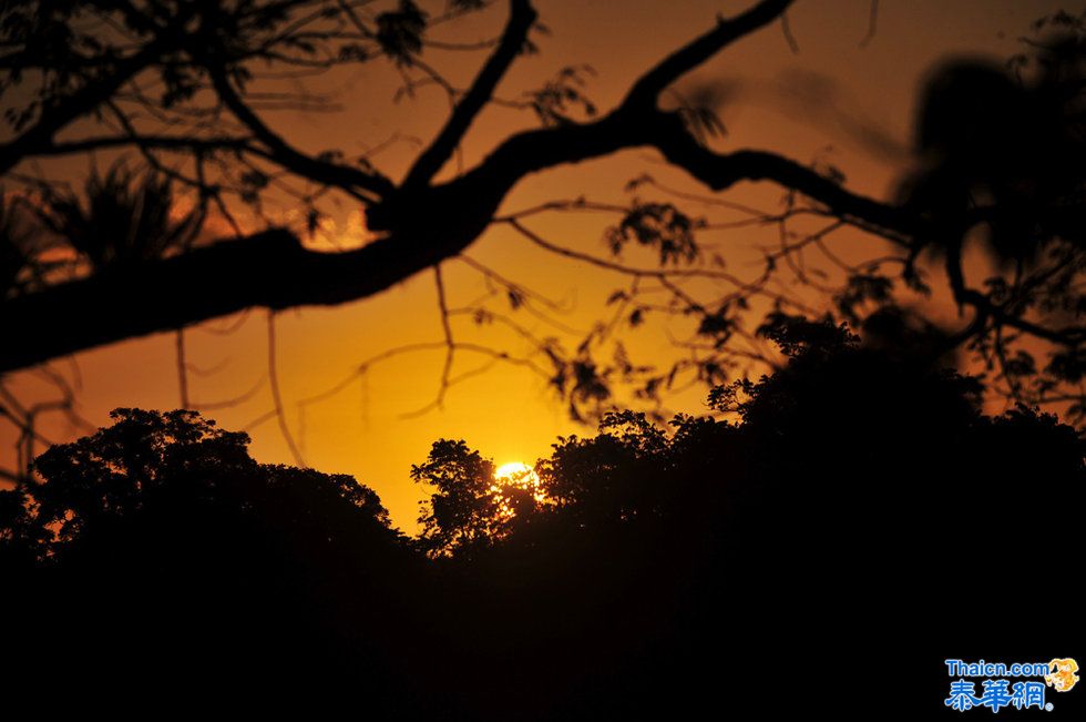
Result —
[[[629, 83], [652, 62], [704, 31], [717, 13], [732, 14], [746, 6], [737, 1], [688, 0], [537, 0], [541, 19], [550, 35], [537, 35], [541, 52], [518, 61], [500, 93], [515, 96], [535, 88], [560, 68], [586, 63], [595, 70], [586, 89], [601, 110], [609, 109]], [[1017, 51], [1015, 38], [1031, 20], [1051, 12], [1059, 2], [988, 0], [883, 0], [878, 33], [860, 48], [868, 29], [868, 0], [800, 1], [790, 13], [790, 24], [800, 52], [793, 54], [779, 26], [762, 30], [727, 49], [687, 79], [680, 88], [697, 82], [728, 82], [738, 92], [721, 109], [728, 135], [720, 149], [759, 148], [800, 161], [810, 161], [832, 146], [830, 157], [846, 171], [850, 187], [884, 196], [901, 167], [900, 148], [881, 149], [856, 141], [848, 123], [875, 129], [899, 146], [908, 141], [914, 90], [931, 63], [946, 54], [985, 54], [1003, 59]], [[475, 40], [492, 34], [504, 21], [499, 6], [462, 26], [434, 31], [443, 40]], [[428, 54], [454, 81], [465, 83], [482, 55]], [[797, 84], [797, 79], [802, 82]], [[817, 82], [816, 82], [817, 81]], [[824, 82], [823, 82], [824, 81]], [[414, 101], [389, 102], [395, 75], [382, 62], [370, 63], [349, 74], [317, 81], [317, 87], [337, 95], [344, 111], [337, 114], [281, 112], [267, 118], [297, 145], [311, 151], [341, 148], [362, 152], [393, 132], [429, 139], [447, 112], [443, 96], [422, 90]], [[803, 93], [797, 88], [805, 89]], [[842, 119], [846, 119], [842, 122]], [[473, 126], [463, 145], [470, 165], [510, 132], [530, 126], [533, 119], [506, 109], [489, 110]], [[376, 161], [397, 177], [416, 149], [393, 145]], [[55, 167], [55, 166], [54, 166]], [[85, 161], [61, 166], [78, 174]], [[452, 169], [454, 170], [454, 169]], [[55, 171], [54, 171], [55, 172]], [[448, 170], [447, 170], [448, 172]], [[595, 201], [623, 202], [627, 180], [649, 172], [662, 182], [699, 191], [682, 173], [663, 165], [648, 151], [628, 151], [576, 167], [563, 167], [523, 180], [506, 200], [512, 211], [556, 197], [587, 195]], [[728, 194], [730, 200], [771, 207], [777, 189], [746, 184]], [[691, 206], [690, 211], [709, 213]], [[727, 220], [720, 213], [710, 214]], [[345, 207], [330, 233], [342, 243], [358, 242], [357, 212]], [[533, 228], [549, 240], [602, 255], [601, 242], [609, 217], [553, 215], [533, 221]], [[775, 233], [769, 231], [770, 234]], [[752, 244], [766, 241], [756, 232], [742, 231], [706, 236], [720, 244], [731, 268], [749, 274], [757, 268], [744, 263]], [[857, 241], [857, 243], [865, 243]], [[535, 247], [508, 230], [486, 233], [468, 254], [570, 307], [561, 321], [587, 329], [603, 317], [603, 302], [624, 279], [583, 264], [561, 260]], [[631, 263], [647, 261], [636, 255]], [[444, 264], [450, 303], [467, 303], [482, 289], [478, 274], [464, 264]], [[542, 322], [521, 316], [522, 323], [541, 335], [553, 333]], [[257, 384], [266, 372], [266, 324], [263, 311], [252, 312], [238, 331], [228, 336], [208, 333], [235, 319], [223, 318], [187, 333], [188, 359], [211, 369], [189, 378], [191, 396], [209, 403], [235, 397]], [[461, 318], [458, 338], [486, 343], [518, 355], [527, 352], [515, 336], [498, 331], [480, 332]], [[299, 438], [308, 465], [328, 472], [347, 472], [375, 488], [397, 525], [414, 529], [421, 489], [408, 478], [412, 462], [424, 459], [431, 441], [440, 437], [463, 438], [498, 464], [531, 462], [549, 451], [557, 435], [585, 434], [545, 383], [522, 368], [496, 366], [450, 389], [444, 408], [422, 416], [402, 415], [433, 400], [443, 362], [440, 350], [403, 355], [375, 366], [363, 380], [341, 394], [308, 407], [305, 418], [297, 411], [299, 399], [319, 394], [373, 355], [402, 344], [441, 339], [431, 274], [412, 278], [379, 297], [339, 308], [303, 308], [281, 314], [278, 328], [278, 369], [291, 429]], [[677, 329], [677, 331], [676, 331]], [[673, 327], [680, 334], [682, 328]], [[570, 337], [567, 337], [568, 342]], [[628, 345], [637, 360], [668, 363], [674, 349], [657, 324], [633, 333]], [[575, 343], [575, 342], [574, 342]], [[455, 373], [469, 370], [483, 359], [464, 357]], [[94, 424], [105, 424], [111, 408], [139, 406], [173, 408], [178, 404], [174, 337], [161, 334], [80, 354], [82, 390], [80, 409]], [[53, 368], [71, 374], [71, 364], [59, 360]], [[25, 399], [34, 398], [40, 384], [32, 373], [16, 375], [11, 387]], [[669, 410], [701, 413], [704, 388], [690, 389], [667, 399]], [[267, 386], [244, 404], [207, 411], [226, 428], [246, 428], [272, 408]], [[304, 420], [304, 425], [303, 425]], [[71, 438], [62, 421], [44, 419], [42, 431], [50, 438]], [[293, 462], [275, 420], [249, 428], [253, 454], [262, 461]], [[0, 429], [0, 466], [12, 467], [13, 434]]]

